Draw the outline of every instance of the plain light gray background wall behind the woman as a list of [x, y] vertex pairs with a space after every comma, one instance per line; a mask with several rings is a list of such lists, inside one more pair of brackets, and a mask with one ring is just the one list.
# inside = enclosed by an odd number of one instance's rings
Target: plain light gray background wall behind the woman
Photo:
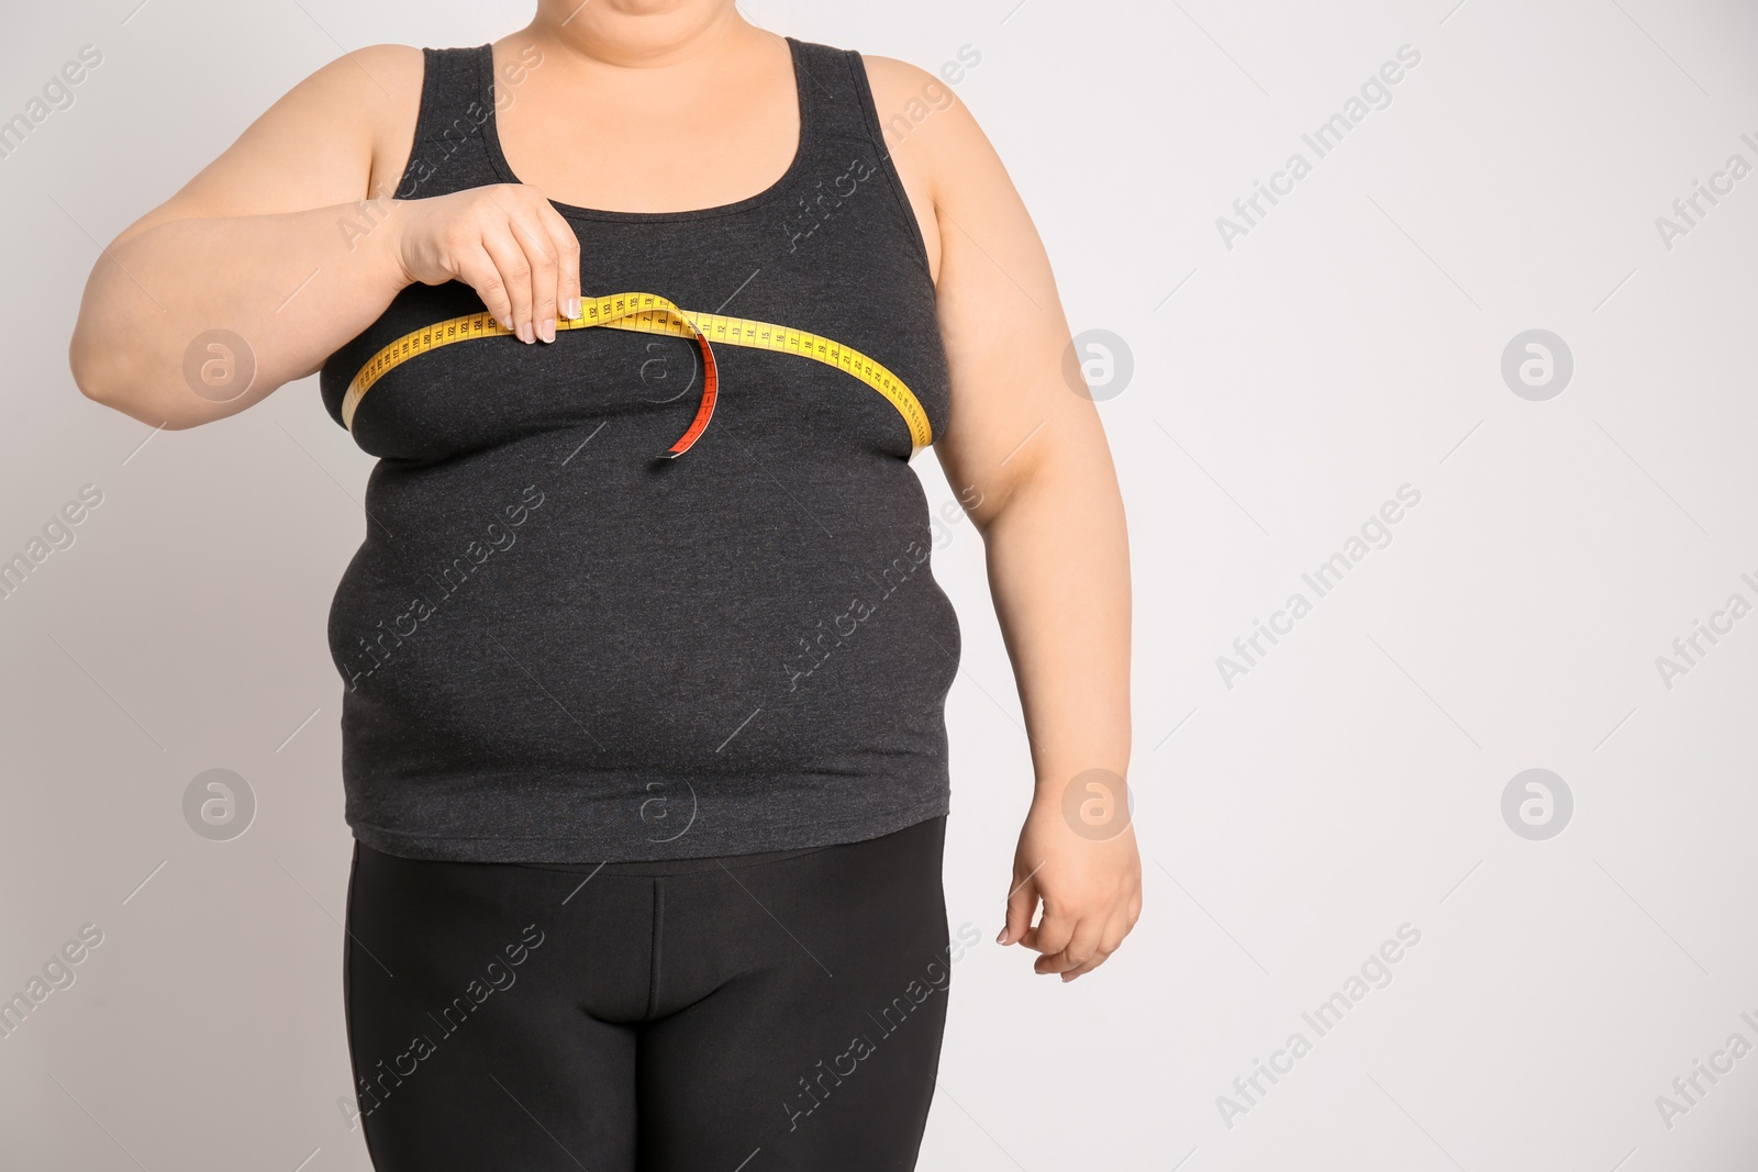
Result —
[[[955, 973], [925, 1168], [1758, 1160], [1758, 1056], [1670, 1128], [1654, 1102], [1728, 1035], [1758, 1044], [1758, 617], [1672, 689], [1654, 664], [1730, 594], [1758, 601], [1758, 176], [1672, 250], [1654, 225], [1730, 155], [1758, 163], [1758, 16], [1454, 5], [745, 7], [930, 70], [981, 51], [958, 91], [1072, 327], [1134, 355], [1101, 409], [1134, 548], [1144, 917], [1067, 988], [992, 944], [1030, 778], [958, 525], [933, 559], [965, 629], [946, 880], [984, 944]], [[104, 492], [0, 601], [0, 993], [104, 931], [0, 1038], [0, 1163], [362, 1170], [338, 1107], [350, 838], [323, 617], [371, 460], [315, 380], [148, 439], [77, 395], [65, 343], [98, 242], [299, 77], [341, 47], [478, 44], [529, 5], [134, 7], [33, 5], [0, 40], [0, 116], [104, 53], [0, 160], [0, 553]], [[1392, 104], [1313, 160], [1299, 135], [1401, 44], [1422, 60]], [[1217, 216], [1292, 151], [1313, 172], [1227, 250]], [[1547, 402], [1500, 374], [1528, 329], [1573, 353]], [[1403, 483], [1422, 499], [1392, 543], [1225, 687], [1217, 655]], [[234, 842], [181, 814], [216, 766], [258, 801]], [[1575, 799], [1545, 842], [1501, 817], [1528, 768]], [[1405, 922], [1422, 937], [1394, 980], [1317, 1038], [1301, 1012]], [[1296, 1030], [1311, 1053], [1227, 1126], [1217, 1096]]]

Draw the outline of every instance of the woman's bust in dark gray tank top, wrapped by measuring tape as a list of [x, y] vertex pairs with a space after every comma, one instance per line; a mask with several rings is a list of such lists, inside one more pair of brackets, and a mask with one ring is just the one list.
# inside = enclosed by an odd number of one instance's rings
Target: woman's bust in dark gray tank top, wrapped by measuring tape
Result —
[[[686, 460], [703, 459], [710, 438], [907, 459], [949, 408], [932, 283], [870, 225], [786, 211], [582, 225], [589, 307], [650, 295], [682, 322], [594, 309], [594, 325], [527, 344], [441, 325], [485, 316], [466, 285], [406, 288], [323, 365], [325, 404], [366, 452], [389, 459], [459, 459], [563, 432], [650, 459], [705, 415], [705, 401], [712, 415]], [[374, 371], [369, 388], [350, 392], [362, 371]]]

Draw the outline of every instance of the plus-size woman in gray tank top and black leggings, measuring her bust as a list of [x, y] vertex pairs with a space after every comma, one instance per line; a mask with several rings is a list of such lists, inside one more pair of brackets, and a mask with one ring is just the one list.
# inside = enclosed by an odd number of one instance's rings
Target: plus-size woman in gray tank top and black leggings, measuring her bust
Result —
[[70, 362], [167, 429], [320, 373], [380, 457], [329, 624], [374, 1167], [914, 1165], [977, 942], [926, 445], [1035, 771], [997, 938], [1134, 926], [1122, 503], [933, 76], [733, 0], [350, 53], [111, 244]]

